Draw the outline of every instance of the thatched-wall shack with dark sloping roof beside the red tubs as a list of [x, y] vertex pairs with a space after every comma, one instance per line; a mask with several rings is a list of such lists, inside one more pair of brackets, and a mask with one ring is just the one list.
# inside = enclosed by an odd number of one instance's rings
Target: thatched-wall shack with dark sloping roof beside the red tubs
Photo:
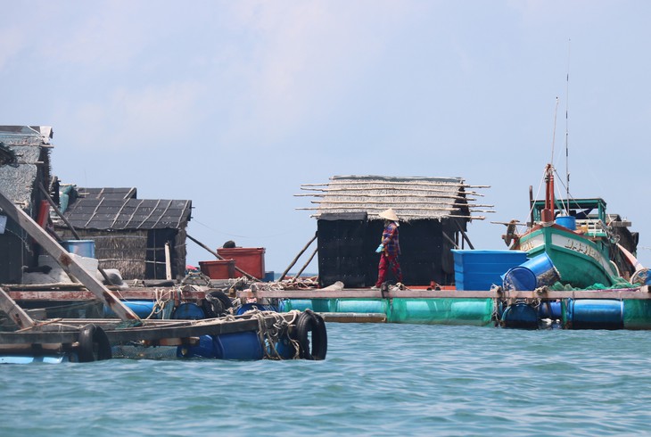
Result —
[[[138, 199], [136, 188], [62, 186], [63, 215], [82, 239], [95, 241], [101, 268], [117, 268], [124, 279], [185, 276], [186, 227], [192, 201]], [[72, 234], [54, 222], [64, 238]]]

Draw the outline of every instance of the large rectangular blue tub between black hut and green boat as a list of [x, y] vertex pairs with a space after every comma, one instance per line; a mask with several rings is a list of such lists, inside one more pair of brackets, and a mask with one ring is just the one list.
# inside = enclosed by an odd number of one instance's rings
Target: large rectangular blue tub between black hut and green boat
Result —
[[490, 290], [502, 284], [501, 276], [509, 268], [527, 260], [525, 251], [452, 250], [457, 290]]

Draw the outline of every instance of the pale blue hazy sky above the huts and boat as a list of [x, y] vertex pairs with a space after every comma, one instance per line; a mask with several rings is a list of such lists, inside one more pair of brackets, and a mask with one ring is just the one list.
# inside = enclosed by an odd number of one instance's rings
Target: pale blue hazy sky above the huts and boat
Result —
[[211, 248], [264, 247], [283, 272], [317, 229], [302, 184], [382, 175], [490, 186], [468, 236], [506, 249], [490, 222], [526, 221], [552, 161], [574, 197], [631, 221], [651, 267], [651, 2], [0, 8], [0, 125], [53, 127], [64, 183], [192, 200], [188, 234]]

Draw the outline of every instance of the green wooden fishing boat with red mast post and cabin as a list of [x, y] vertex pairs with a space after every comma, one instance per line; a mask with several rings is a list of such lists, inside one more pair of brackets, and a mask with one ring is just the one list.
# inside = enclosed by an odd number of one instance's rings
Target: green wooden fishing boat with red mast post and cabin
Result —
[[[532, 222], [527, 231], [516, 235], [515, 227], [509, 227], [511, 249], [526, 251], [530, 259], [547, 253], [561, 276], [560, 282], [573, 287], [608, 287], [621, 282], [621, 276], [628, 279], [635, 269], [619, 244], [622, 229], [628, 224], [619, 216], [606, 214], [606, 202], [600, 198], [555, 201], [551, 164], [545, 181], [545, 200], [531, 200]], [[626, 232], [631, 235], [628, 229]], [[635, 240], [637, 246], [637, 234], [634, 237], [628, 240]]]

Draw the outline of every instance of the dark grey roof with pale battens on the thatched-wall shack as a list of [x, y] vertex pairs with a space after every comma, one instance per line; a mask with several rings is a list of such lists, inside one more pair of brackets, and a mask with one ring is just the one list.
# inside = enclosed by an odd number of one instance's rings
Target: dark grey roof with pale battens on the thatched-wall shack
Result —
[[135, 189], [79, 188], [65, 217], [76, 229], [179, 229], [191, 219], [192, 201], [136, 199]]

